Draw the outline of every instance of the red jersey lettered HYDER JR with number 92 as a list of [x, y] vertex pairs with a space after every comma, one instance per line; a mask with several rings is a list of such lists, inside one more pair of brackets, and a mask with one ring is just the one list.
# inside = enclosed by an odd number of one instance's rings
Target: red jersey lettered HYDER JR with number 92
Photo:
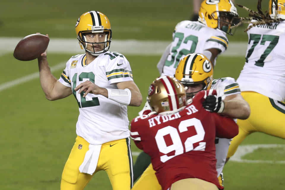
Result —
[[151, 156], [163, 190], [186, 178], [199, 178], [224, 189], [217, 178], [215, 137], [233, 138], [238, 126], [232, 118], [206, 111], [204, 94], [196, 94], [178, 113], [142, 115], [131, 122], [131, 137]]

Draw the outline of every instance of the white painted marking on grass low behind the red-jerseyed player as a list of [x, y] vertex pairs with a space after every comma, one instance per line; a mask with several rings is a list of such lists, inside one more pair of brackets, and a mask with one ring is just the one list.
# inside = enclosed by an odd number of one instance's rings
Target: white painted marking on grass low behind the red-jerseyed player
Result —
[[[262, 163], [262, 164], [285, 164], [284, 161], [272, 161], [272, 160], [247, 160], [242, 159], [246, 154], [252, 153], [258, 148], [284, 148], [285, 145], [276, 145], [276, 144], [257, 144], [257, 145], [240, 145], [238, 146], [237, 151], [234, 156], [232, 156], [229, 161], [232, 162], [243, 162], [243, 163]], [[132, 152], [133, 156], [138, 156], [140, 152]]]

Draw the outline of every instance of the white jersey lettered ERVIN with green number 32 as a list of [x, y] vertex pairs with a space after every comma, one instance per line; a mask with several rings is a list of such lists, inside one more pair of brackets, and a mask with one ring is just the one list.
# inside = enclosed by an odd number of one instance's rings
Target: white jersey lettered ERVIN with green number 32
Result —
[[172, 37], [173, 41], [163, 66], [162, 76], [173, 76], [179, 61], [189, 53], [202, 53], [210, 48], [219, 49], [222, 53], [228, 46], [225, 32], [210, 28], [198, 21], [184, 20], [178, 23]]

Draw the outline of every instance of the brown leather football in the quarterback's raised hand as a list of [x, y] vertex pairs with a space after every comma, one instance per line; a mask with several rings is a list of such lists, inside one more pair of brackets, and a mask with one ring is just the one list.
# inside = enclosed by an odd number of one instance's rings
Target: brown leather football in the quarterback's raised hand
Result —
[[21, 61], [31, 61], [45, 52], [50, 38], [43, 34], [31, 34], [24, 37], [14, 50], [14, 57]]

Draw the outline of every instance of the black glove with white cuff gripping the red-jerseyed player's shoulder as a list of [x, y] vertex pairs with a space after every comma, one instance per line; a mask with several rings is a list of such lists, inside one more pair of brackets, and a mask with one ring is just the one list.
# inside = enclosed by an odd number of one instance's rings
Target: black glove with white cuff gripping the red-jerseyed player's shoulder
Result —
[[224, 101], [216, 95], [208, 95], [202, 103], [205, 110], [210, 112], [222, 113], [225, 108]]

